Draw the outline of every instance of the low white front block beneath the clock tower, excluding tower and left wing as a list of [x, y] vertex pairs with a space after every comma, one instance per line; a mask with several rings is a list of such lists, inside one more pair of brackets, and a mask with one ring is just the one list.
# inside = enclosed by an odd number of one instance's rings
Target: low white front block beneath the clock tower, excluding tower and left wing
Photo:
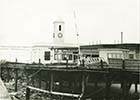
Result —
[[67, 55], [69, 62], [73, 62], [73, 52], [63, 50], [63, 48], [77, 48], [73, 44], [40, 44], [32, 47], [32, 61], [37, 63], [39, 59], [42, 63], [63, 63]]

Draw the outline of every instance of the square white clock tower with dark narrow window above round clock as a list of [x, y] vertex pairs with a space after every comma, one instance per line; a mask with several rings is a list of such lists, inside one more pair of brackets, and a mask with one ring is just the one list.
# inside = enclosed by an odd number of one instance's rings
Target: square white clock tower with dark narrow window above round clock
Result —
[[54, 21], [54, 33], [53, 33], [53, 43], [63, 44], [64, 43], [64, 21], [58, 20]]

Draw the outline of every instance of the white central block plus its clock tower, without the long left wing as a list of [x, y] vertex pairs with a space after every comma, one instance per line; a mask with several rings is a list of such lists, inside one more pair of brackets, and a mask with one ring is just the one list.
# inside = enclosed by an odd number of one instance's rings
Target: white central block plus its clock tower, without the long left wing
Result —
[[42, 63], [62, 63], [66, 62], [65, 57], [69, 57], [69, 62], [73, 62], [72, 52], [65, 52], [60, 48], [78, 48], [77, 44], [70, 44], [64, 42], [65, 37], [65, 23], [62, 20], [54, 21], [53, 43], [51, 44], [37, 44], [32, 47], [31, 62]]

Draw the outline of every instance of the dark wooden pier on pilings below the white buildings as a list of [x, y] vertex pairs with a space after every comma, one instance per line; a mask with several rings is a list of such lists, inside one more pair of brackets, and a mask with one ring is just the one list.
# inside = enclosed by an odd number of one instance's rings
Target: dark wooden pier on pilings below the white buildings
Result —
[[[112, 100], [113, 98], [115, 100], [138, 100], [140, 65], [132, 63], [130, 68], [125, 60], [120, 65], [113, 67], [101, 61], [98, 67], [97, 65], [88, 67], [84, 64], [80, 66], [57, 64], [55, 67], [55, 64], [33, 65], [16, 62], [1, 65], [1, 76], [10, 80], [10, 72], [13, 71], [15, 91], [18, 91], [17, 84], [21, 75], [19, 72], [23, 72], [27, 82], [26, 100], [30, 100], [31, 91], [45, 93], [52, 99], [59, 96], [61, 99], [78, 100]], [[3, 76], [4, 70], [7, 76]], [[113, 87], [113, 84], [121, 86]], [[137, 94], [134, 97], [129, 92], [132, 84], [135, 84], [135, 94]]]

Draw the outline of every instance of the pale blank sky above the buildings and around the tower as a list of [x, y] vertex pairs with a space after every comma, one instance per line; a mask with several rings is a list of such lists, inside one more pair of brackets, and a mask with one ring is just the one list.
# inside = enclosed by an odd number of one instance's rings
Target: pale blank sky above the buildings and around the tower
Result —
[[139, 5], [139, 0], [0, 0], [0, 45], [51, 43], [59, 17], [66, 43], [77, 43], [76, 31], [80, 44], [120, 43], [121, 32], [124, 43], [140, 43]]

